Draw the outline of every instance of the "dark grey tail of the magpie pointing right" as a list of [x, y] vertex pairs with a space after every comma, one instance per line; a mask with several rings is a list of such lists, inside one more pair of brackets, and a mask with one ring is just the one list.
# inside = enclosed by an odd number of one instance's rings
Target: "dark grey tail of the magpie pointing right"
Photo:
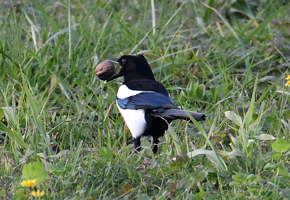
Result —
[[[202, 113], [197, 113], [193, 111], [187, 111], [196, 121], [202, 121], [205, 120], [205, 115]], [[164, 112], [154, 112], [151, 115], [153, 116], [160, 116], [160, 117], [166, 117], [171, 118], [173, 120], [176, 119], [182, 119], [189, 121], [190, 118], [185, 112], [185, 110], [177, 110], [177, 109], [166, 109]]]

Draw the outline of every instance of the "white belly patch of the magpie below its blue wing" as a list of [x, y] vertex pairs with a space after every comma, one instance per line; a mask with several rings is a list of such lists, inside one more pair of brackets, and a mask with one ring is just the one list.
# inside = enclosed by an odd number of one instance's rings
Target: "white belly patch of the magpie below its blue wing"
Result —
[[[117, 101], [116, 101], [117, 103]], [[117, 107], [121, 113], [121, 115], [124, 118], [124, 121], [126, 122], [128, 128], [130, 129], [132, 136], [134, 138], [139, 137], [142, 135], [142, 133], [145, 130], [146, 121], [145, 121], [145, 115], [144, 110], [138, 109], [138, 110], [130, 110], [130, 109], [121, 109], [118, 106]]]

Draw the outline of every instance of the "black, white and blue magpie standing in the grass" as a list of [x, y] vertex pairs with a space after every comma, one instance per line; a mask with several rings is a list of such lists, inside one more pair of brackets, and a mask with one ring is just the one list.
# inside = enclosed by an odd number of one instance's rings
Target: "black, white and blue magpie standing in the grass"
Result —
[[[117, 92], [117, 108], [130, 129], [135, 151], [141, 150], [140, 137], [153, 137], [154, 154], [157, 153], [159, 137], [164, 135], [168, 124], [173, 120], [189, 121], [184, 110], [173, 103], [166, 88], [157, 82], [143, 55], [124, 55], [121, 58], [108, 58], [105, 61], [117, 63], [120, 70], [106, 82], [123, 76], [123, 84]], [[205, 120], [205, 115], [187, 111], [196, 121]]]

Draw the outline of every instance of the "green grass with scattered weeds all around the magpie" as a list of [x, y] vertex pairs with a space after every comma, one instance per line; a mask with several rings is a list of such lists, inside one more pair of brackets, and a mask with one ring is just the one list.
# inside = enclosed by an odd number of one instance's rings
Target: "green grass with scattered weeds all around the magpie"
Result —
[[[43, 199], [290, 199], [288, 1], [153, 2], [0, 2], [0, 199], [34, 199], [37, 170]], [[94, 72], [138, 53], [207, 115], [173, 122], [157, 155], [148, 137], [132, 153], [122, 79]]]

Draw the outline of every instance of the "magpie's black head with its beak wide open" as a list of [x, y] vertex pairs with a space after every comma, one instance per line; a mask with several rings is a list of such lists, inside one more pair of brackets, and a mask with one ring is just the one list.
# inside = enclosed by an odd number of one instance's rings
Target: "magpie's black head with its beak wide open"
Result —
[[149, 64], [147, 63], [145, 57], [142, 55], [124, 55], [121, 58], [108, 58], [105, 61], [118, 63], [121, 66], [120, 71], [111, 76], [107, 82], [120, 76], [124, 76], [124, 82], [134, 79], [155, 80]]

